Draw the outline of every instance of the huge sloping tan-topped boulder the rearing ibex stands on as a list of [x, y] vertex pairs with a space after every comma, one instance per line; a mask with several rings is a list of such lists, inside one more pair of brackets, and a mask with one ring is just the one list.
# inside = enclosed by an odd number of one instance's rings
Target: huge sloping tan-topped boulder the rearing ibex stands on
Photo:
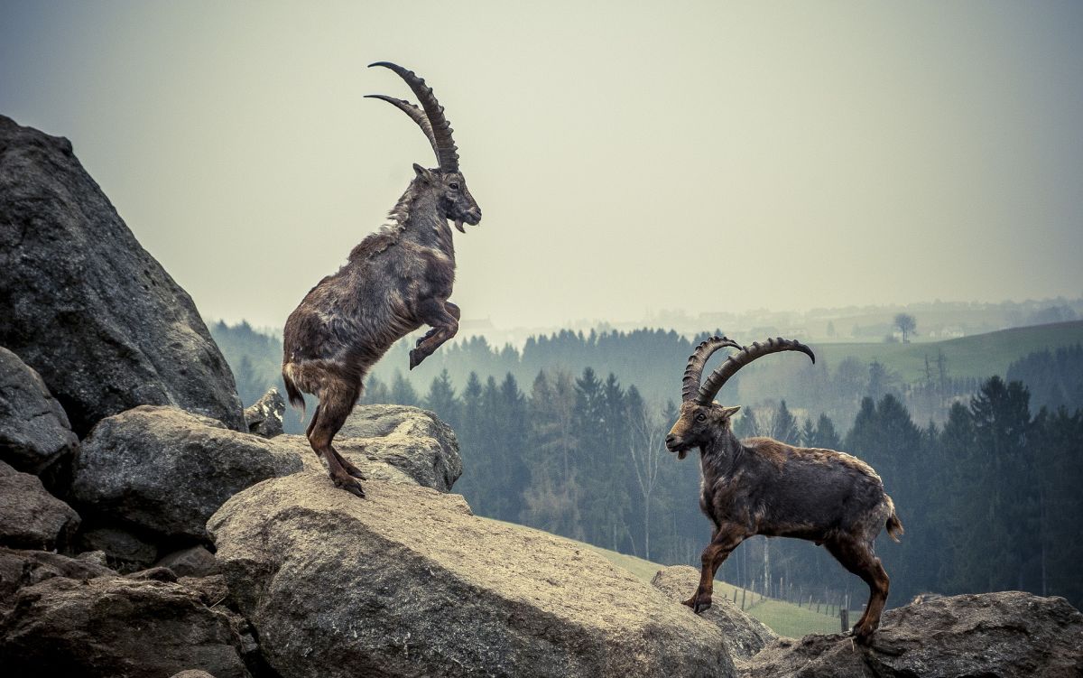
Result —
[[458, 495], [298, 473], [208, 523], [283, 678], [732, 676], [719, 630], [600, 556]]

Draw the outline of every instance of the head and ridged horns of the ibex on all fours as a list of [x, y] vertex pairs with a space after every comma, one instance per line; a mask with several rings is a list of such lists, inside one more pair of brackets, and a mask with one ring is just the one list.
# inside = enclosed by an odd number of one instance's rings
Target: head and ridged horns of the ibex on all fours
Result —
[[[700, 378], [707, 358], [725, 347], [741, 350], [726, 358], [721, 367], [710, 373], [701, 386]], [[728, 430], [730, 419], [741, 408], [719, 405], [714, 402], [715, 395], [739, 369], [758, 357], [780, 351], [800, 351], [815, 363], [812, 349], [794, 339], [779, 337], [768, 339], [764, 343], [756, 341], [751, 347], [742, 347], [726, 337], [712, 337], [701, 342], [689, 356], [688, 366], [684, 368], [680, 417], [666, 435], [666, 447], [669, 452], [676, 452], [677, 457], [683, 459], [689, 449], [703, 446]]]

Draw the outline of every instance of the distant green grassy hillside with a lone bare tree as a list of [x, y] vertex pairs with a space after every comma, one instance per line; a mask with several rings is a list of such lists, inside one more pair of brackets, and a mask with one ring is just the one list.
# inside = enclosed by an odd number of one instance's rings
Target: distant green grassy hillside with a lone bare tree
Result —
[[904, 381], [925, 378], [925, 356], [936, 370], [937, 352], [943, 351], [951, 377], [986, 378], [1007, 373], [1008, 365], [1028, 353], [1083, 343], [1083, 321], [1015, 327], [945, 341], [913, 343], [818, 343], [819, 356], [836, 366], [853, 356], [862, 363], [877, 360], [899, 373]]

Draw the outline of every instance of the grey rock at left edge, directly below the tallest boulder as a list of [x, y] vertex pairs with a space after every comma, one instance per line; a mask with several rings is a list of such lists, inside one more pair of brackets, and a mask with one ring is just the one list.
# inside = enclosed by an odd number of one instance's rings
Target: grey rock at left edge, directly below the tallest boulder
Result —
[[38, 474], [78, 446], [64, 408], [38, 373], [0, 347], [0, 461]]

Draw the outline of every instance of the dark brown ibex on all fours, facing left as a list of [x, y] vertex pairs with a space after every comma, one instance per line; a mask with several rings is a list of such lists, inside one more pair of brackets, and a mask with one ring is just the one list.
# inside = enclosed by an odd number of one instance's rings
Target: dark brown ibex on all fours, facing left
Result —
[[[740, 351], [701, 386], [707, 358], [723, 347]], [[902, 534], [879, 475], [860, 459], [833, 449], [794, 447], [770, 438], [739, 441], [730, 419], [740, 407], [714, 402], [739, 369], [779, 351], [800, 351], [815, 362], [807, 345], [782, 338], [742, 348], [726, 337], [712, 337], [688, 358], [680, 418], [666, 436], [666, 447], [680, 459], [690, 448], [700, 448], [700, 508], [714, 523], [714, 534], [703, 551], [700, 586], [684, 604], [697, 613], [710, 607], [715, 573], [744, 539], [756, 534], [808, 539], [825, 546], [869, 585], [869, 604], [854, 626], [858, 640], [866, 641], [879, 626], [888, 592], [888, 576], [873, 540], [885, 525], [891, 538]]]

